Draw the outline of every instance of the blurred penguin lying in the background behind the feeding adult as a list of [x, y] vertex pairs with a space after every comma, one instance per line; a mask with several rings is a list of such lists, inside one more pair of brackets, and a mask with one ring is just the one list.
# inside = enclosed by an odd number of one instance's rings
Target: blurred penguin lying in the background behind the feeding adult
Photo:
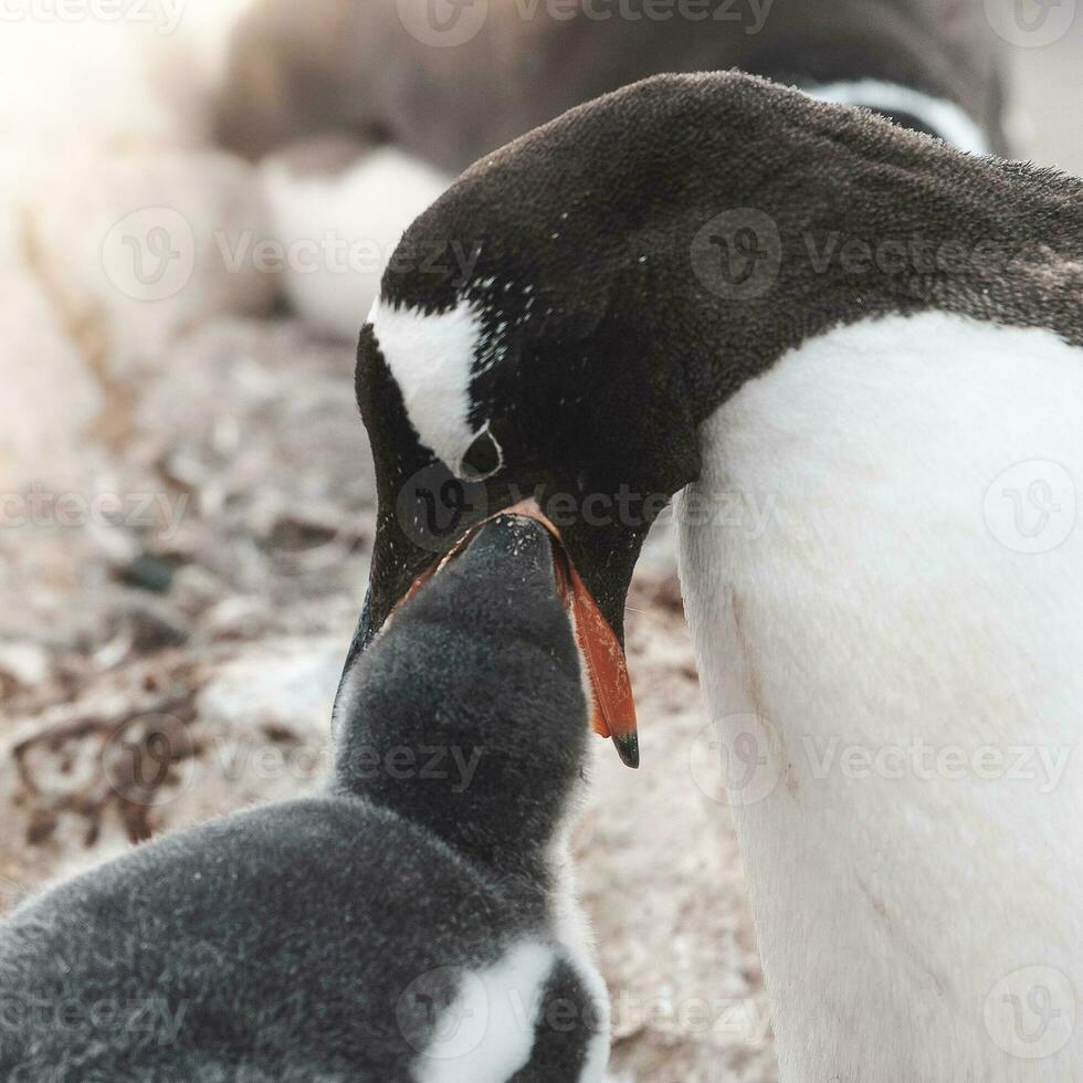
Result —
[[[566, 109], [662, 72], [739, 67], [1001, 150], [1002, 44], [978, 0], [260, 0], [217, 128], [250, 157], [295, 144], [261, 170], [296, 253], [282, 282], [309, 326], [353, 341], [410, 222]], [[460, 263], [469, 276], [469, 252]]]

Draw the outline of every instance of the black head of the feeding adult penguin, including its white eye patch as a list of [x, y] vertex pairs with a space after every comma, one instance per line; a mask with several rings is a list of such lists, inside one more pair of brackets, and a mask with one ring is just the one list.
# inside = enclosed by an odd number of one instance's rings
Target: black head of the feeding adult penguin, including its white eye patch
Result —
[[[694, 179], [655, 145], [692, 87], [655, 78], [566, 114], [403, 236], [358, 351], [380, 503], [358, 649], [443, 544], [526, 500], [622, 642], [646, 534], [700, 472], [688, 372], [709, 335], [687, 244], [665, 235]], [[654, 304], [664, 290], [688, 303]]]

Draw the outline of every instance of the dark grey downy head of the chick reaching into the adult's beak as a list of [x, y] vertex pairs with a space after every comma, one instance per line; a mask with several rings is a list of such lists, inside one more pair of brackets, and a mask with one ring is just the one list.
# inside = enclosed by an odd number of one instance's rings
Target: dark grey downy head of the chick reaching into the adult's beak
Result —
[[588, 739], [555, 557], [544, 527], [500, 515], [418, 586], [344, 677], [337, 788], [490, 865], [544, 863]]

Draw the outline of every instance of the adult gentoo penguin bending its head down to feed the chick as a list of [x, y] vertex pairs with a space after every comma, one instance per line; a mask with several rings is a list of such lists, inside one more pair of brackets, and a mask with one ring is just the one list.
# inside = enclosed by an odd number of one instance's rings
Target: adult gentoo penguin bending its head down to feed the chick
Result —
[[1083, 1077], [1081, 291], [1080, 181], [663, 76], [469, 170], [361, 333], [357, 650], [452, 475], [564, 516], [618, 637], [681, 493], [786, 1083]]

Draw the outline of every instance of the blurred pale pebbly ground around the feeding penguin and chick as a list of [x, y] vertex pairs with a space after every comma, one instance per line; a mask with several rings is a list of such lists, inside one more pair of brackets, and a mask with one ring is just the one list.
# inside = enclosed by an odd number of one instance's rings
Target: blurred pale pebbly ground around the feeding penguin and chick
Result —
[[[65, 72], [6, 76], [23, 97], [0, 105], [15, 148], [0, 179], [0, 911], [159, 832], [318, 785], [360, 606], [375, 504], [353, 350], [285, 313], [272, 274], [223, 259], [221, 236], [269, 225], [252, 169], [203, 136], [219, 42], [191, 11], [171, 51], [117, 27], [78, 28], [90, 51], [73, 28], [0, 43], [0, 70]], [[153, 238], [148, 208], [191, 231], [165, 280], [124, 249], [124, 223]], [[576, 837], [614, 1064], [643, 1083], [769, 1083], [664, 536], [630, 607], [643, 768], [597, 743]]]

